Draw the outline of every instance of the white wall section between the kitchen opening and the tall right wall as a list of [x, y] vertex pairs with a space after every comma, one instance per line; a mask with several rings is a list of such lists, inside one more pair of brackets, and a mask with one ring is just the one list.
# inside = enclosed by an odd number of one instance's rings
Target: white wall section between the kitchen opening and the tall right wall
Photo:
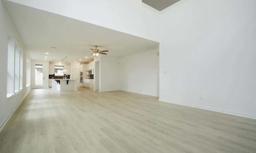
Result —
[[156, 96], [158, 49], [120, 58], [120, 89]]

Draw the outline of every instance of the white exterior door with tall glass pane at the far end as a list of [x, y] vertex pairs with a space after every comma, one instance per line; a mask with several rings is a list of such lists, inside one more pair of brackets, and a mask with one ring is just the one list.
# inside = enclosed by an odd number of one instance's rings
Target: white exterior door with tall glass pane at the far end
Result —
[[34, 64], [34, 88], [45, 88], [44, 64]]

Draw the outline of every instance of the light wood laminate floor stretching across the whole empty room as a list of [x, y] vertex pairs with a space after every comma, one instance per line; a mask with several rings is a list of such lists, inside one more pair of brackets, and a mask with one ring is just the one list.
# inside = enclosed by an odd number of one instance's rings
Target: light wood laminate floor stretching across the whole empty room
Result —
[[33, 89], [0, 153], [256, 153], [256, 120], [123, 91]]

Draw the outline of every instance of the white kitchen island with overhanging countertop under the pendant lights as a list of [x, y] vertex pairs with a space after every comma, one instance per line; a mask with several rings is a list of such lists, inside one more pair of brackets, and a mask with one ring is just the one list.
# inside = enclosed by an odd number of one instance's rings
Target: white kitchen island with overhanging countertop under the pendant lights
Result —
[[77, 91], [77, 79], [52, 79], [52, 89], [59, 91]]

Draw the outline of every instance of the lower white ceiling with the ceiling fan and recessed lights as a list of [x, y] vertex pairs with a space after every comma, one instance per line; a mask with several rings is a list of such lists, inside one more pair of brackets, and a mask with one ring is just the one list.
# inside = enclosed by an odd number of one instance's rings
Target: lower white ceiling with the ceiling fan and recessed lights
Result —
[[[4, 1], [31, 59], [67, 62], [92, 61], [90, 48], [108, 50], [108, 55], [126, 56], [156, 49], [158, 42], [105, 27]], [[99, 19], [100, 20], [100, 19]], [[56, 47], [53, 49], [51, 47]], [[87, 51], [87, 52], [82, 52]], [[49, 53], [46, 55], [45, 53]], [[85, 57], [88, 57], [87, 59]]]

